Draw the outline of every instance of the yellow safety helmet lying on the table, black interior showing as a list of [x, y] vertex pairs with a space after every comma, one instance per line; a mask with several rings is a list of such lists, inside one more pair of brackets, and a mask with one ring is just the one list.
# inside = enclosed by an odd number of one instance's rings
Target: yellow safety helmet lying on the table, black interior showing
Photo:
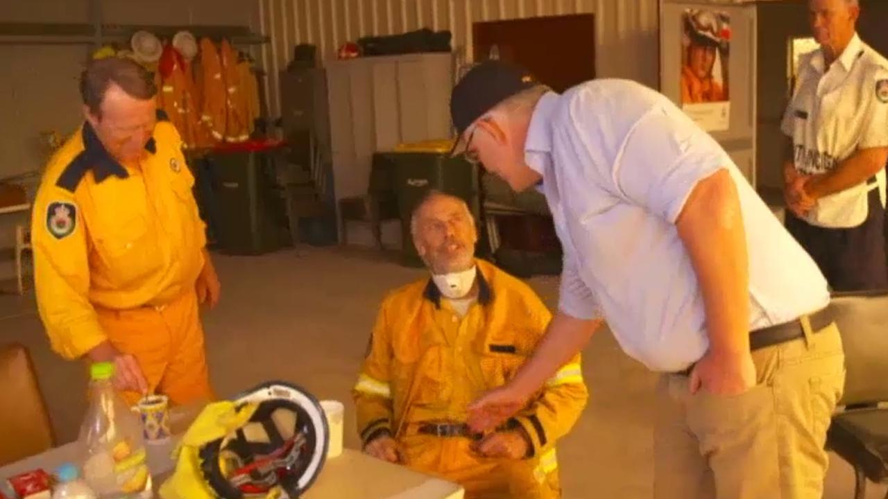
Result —
[[163, 499], [296, 499], [321, 472], [329, 428], [321, 404], [292, 384], [263, 384], [210, 404], [183, 437]]

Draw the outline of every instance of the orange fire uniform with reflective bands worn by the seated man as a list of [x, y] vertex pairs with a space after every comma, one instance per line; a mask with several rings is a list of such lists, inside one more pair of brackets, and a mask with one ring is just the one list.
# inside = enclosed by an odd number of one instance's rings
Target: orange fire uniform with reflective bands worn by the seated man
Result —
[[403, 463], [462, 484], [466, 497], [557, 497], [555, 443], [588, 398], [579, 356], [511, 420], [529, 438], [519, 461], [481, 458], [468, 438], [419, 432], [423, 424], [463, 424], [472, 400], [505, 384], [543, 337], [551, 314], [527, 285], [478, 261], [479, 296], [464, 317], [430, 280], [385, 298], [353, 388], [366, 444], [388, 433]]

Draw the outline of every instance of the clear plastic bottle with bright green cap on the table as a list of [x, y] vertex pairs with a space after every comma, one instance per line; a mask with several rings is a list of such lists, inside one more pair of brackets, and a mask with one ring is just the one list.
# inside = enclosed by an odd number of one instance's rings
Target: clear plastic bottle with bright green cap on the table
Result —
[[115, 366], [90, 367], [90, 405], [78, 439], [83, 479], [99, 497], [151, 497], [142, 424], [111, 384]]

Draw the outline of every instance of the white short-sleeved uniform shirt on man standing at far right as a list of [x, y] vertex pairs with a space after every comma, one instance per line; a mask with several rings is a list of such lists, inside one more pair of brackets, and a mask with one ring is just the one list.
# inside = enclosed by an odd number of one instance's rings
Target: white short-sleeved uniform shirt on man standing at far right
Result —
[[[781, 130], [792, 138], [799, 172], [826, 173], [858, 149], [888, 147], [888, 59], [854, 35], [829, 69], [820, 49], [802, 56], [798, 67]], [[868, 214], [868, 192], [875, 188], [884, 206], [885, 171], [879, 170], [875, 182], [819, 199], [805, 220], [823, 227], [860, 226]]]

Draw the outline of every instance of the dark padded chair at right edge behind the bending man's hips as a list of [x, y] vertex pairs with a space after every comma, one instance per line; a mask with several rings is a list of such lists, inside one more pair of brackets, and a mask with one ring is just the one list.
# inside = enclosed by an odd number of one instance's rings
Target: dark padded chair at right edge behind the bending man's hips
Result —
[[888, 483], [888, 407], [878, 407], [888, 402], [888, 290], [836, 293], [832, 303], [847, 377], [827, 448], [854, 467], [854, 499], [863, 499], [867, 479]]

